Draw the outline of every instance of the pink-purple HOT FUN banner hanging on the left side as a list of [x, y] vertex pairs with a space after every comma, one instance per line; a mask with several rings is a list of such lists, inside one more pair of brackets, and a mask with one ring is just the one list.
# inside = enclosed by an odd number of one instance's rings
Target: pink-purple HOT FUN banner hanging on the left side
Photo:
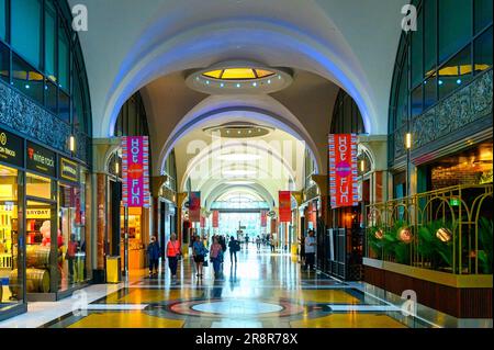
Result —
[[128, 207], [149, 207], [149, 138], [122, 137], [122, 200]]

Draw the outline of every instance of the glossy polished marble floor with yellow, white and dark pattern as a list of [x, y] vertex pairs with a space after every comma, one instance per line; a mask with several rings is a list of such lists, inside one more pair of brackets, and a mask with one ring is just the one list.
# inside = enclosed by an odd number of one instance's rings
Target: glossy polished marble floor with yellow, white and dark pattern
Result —
[[[178, 280], [162, 267], [157, 278], [132, 271], [127, 282], [91, 285], [83, 297], [33, 303], [25, 315], [0, 327], [49, 328], [404, 328], [442, 327], [404, 316], [401, 301], [373, 294], [364, 283], [344, 283], [305, 272], [288, 253], [243, 249], [238, 263], [225, 257], [224, 278], [212, 267], [198, 279], [191, 258], [180, 262]], [[427, 315], [426, 313], [424, 315]]]

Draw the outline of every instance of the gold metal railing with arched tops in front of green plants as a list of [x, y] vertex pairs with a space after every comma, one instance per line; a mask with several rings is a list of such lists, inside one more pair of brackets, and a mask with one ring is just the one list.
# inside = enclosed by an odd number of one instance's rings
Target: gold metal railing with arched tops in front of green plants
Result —
[[371, 204], [366, 207], [366, 255], [454, 274], [491, 274], [492, 215], [492, 183]]

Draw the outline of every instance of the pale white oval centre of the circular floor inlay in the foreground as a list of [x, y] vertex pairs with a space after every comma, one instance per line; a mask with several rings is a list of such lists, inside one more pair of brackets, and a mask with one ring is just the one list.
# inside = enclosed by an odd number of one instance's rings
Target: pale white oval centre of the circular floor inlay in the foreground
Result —
[[283, 309], [282, 306], [255, 301], [225, 301], [202, 303], [192, 306], [192, 309], [201, 313], [224, 314], [229, 316], [260, 315], [278, 313]]

